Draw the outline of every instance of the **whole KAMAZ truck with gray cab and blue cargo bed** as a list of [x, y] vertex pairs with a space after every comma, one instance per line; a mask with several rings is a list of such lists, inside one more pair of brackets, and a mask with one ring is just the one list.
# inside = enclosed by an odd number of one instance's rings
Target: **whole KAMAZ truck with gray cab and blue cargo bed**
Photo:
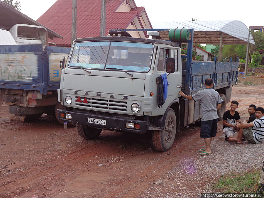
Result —
[[[157, 39], [157, 32], [148, 32], [151, 39], [131, 38], [123, 31], [76, 39], [62, 70], [58, 99], [65, 109], [58, 109], [57, 116], [76, 123], [87, 140], [97, 138], [102, 129], [150, 132], [155, 150], [166, 151], [176, 131], [202, 115], [200, 102], [188, 101], [179, 91], [194, 94], [211, 77], [224, 100], [221, 117], [237, 83], [238, 62], [193, 61], [193, 29], [170, 32], [173, 42]], [[187, 55], [181, 55], [182, 43], [187, 43]], [[164, 75], [168, 86], [161, 83]], [[161, 87], [167, 87], [166, 97]]]

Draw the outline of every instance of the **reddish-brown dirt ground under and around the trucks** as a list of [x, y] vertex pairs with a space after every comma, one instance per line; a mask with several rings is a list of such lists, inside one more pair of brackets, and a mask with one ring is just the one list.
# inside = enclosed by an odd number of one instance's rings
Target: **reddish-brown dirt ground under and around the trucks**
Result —
[[[240, 80], [252, 81], [247, 77]], [[241, 82], [233, 87], [231, 100], [239, 101], [237, 110], [241, 118], [248, 116], [249, 104], [264, 106], [263, 83], [264, 79], [259, 78], [255, 83], [258, 85]], [[157, 186], [157, 193], [160, 186], [165, 187], [166, 196], [177, 191], [179, 197], [188, 197], [181, 194], [179, 188], [173, 190], [172, 186], [177, 186], [179, 180], [169, 175], [183, 162], [189, 163], [190, 158], [201, 159], [197, 150], [204, 145], [196, 125], [178, 132], [172, 149], [160, 153], [151, 147], [149, 135], [103, 131], [97, 140], [86, 141], [79, 137], [76, 128], [68, 126], [64, 130], [49, 116], [42, 116], [34, 123], [18, 124], [10, 121], [7, 107], [0, 106], [0, 112], [2, 198], [148, 197], [148, 189], [153, 185]], [[219, 122], [219, 132], [221, 127]], [[223, 134], [217, 133], [216, 139], [221, 143]], [[10, 163], [14, 164], [8, 165]], [[5, 166], [10, 171], [4, 169]], [[189, 197], [208, 188], [208, 184], [203, 183], [207, 175], [197, 175], [197, 179], [190, 182], [185, 173], [177, 174]], [[201, 185], [194, 187], [193, 182]], [[164, 192], [166, 187], [170, 187], [170, 191]]]

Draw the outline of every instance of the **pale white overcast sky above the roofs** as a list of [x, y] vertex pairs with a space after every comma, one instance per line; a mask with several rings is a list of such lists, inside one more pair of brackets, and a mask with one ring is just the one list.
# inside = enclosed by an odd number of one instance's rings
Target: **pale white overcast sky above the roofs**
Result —
[[[21, 4], [21, 12], [23, 14], [26, 14], [28, 17], [37, 20], [57, 0], [45, 0], [45, 1], [19, 0], [19, 1]], [[263, 0], [251, 0], [251, 1], [134, 0], [134, 1], [136, 3], [136, 6], [145, 7], [150, 23], [171, 22], [171, 21], [191, 21], [192, 18], [194, 18], [197, 19], [197, 21], [238, 20], [243, 22], [248, 28], [249, 26], [264, 26]]]

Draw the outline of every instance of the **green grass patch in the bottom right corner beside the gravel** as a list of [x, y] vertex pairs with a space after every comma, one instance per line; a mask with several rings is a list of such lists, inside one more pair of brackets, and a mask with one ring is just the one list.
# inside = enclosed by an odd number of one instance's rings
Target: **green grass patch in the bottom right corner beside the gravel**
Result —
[[212, 186], [212, 189], [215, 192], [257, 192], [259, 180], [260, 171], [257, 170], [244, 173], [231, 173], [222, 175]]

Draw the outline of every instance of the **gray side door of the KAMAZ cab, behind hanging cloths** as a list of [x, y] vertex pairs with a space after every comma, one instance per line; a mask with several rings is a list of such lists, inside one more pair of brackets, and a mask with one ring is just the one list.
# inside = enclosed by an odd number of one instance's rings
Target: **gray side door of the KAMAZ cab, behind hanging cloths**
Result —
[[167, 107], [170, 105], [171, 101], [179, 97], [179, 91], [181, 90], [181, 83], [182, 83], [181, 82], [182, 75], [181, 75], [181, 67], [179, 64], [178, 55], [179, 55], [178, 49], [167, 48], [162, 46], [158, 47], [157, 56], [154, 64], [154, 70], [153, 70], [154, 90], [157, 90], [158, 88], [158, 84], [156, 83], [156, 78], [166, 73], [166, 68], [165, 68], [166, 58], [168, 57], [175, 58], [175, 72], [173, 74], [167, 74], [167, 80], [169, 86], [167, 87], [168, 88], [167, 99], [165, 100], [165, 104], [163, 105], [163, 107], [158, 108], [157, 98], [153, 99], [154, 106], [153, 106], [153, 112], [151, 114], [152, 116], [160, 115], [160, 111], [165, 112]]

